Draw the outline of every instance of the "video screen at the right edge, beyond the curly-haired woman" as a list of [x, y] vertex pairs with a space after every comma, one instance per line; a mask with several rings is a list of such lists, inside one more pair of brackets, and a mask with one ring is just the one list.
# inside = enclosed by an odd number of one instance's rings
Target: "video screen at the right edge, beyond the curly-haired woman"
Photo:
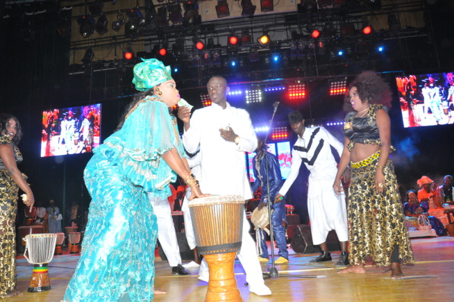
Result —
[[454, 71], [396, 76], [403, 126], [454, 124]]

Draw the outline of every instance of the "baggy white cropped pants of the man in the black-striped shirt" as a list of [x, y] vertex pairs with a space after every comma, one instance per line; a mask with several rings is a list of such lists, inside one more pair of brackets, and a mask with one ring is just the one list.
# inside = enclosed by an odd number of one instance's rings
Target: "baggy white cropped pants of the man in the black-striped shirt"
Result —
[[330, 230], [335, 230], [339, 241], [348, 241], [345, 194], [337, 196], [334, 179], [309, 180], [308, 211], [312, 243], [326, 242]]

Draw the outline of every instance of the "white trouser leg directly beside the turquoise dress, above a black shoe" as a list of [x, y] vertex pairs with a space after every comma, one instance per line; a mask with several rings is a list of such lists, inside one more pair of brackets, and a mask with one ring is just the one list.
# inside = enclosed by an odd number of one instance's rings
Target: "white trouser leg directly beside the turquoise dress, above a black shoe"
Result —
[[162, 251], [164, 251], [169, 265], [176, 267], [181, 264], [181, 255], [180, 247], [176, 240], [174, 219], [172, 219], [169, 201], [151, 196], [151, 194], [149, 194], [149, 200], [158, 219], [158, 240]]

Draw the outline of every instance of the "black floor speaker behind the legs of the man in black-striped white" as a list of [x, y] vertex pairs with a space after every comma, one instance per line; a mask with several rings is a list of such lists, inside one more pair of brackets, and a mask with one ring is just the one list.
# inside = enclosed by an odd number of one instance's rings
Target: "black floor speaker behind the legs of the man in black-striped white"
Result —
[[[331, 230], [328, 233], [326, 244], [328, 244], [329, 251], [340, 251], [340, 244], [339, 240], [337, 240], [335, 230]], [[310, 226], [307, 226], [305, 224], [296, 226], [292, 242], [290, 242], [290, 246], [297, 254], [310, 254], [320, 252], [319, 246], [312, 243], [312, 233], [310, 233]]]

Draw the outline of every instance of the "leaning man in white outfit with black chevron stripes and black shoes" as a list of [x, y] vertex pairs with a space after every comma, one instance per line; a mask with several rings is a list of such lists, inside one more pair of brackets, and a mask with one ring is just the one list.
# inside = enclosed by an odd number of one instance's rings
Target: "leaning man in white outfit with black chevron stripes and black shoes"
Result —
[[320, 246], [321, 255], [310, 260], [312, 263], [331, 261], [326, 237], [330, 230], [335, 230], [342, 253], [336, 267], [348, 265], [348, 229], [345, 194], [337, 197], [333, 182], [337, 174], [337, 162], [330, 146], [342, 154], [344, 145], [323, 127], [306, 128], [303, 115], [299, 111], [289, 113], [289, 123], [298, 140], [292, 150], [292, 167], [283, 187], [276, 196], [284, 196], [298, 176], [301, 162], [304, 162], [309, 175], [308, 211], [312, 243]]

